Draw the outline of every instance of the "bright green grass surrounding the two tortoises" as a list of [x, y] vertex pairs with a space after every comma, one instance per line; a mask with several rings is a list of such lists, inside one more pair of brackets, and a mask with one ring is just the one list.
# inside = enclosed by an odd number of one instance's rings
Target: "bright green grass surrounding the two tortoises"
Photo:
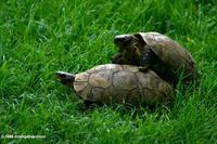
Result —
[[[86, 113], [53, 78], [110, 63], [118, 34], [176, 39], [201, 74], [174, 107]], [[216, 0], [1, 0], [0, 134], [46, 135], [3, 143], [217, 143]]]

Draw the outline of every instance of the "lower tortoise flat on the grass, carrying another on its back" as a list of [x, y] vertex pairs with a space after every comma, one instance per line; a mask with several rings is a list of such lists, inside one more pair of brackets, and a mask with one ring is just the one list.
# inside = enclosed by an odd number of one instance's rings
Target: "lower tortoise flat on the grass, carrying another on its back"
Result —
[[174, 89], [168, 82], [151, 69], [139, 71], [138, 66], [105, 64], [76, 75], [58, 71], [55, 76], [73, 88], [87, 107], [111, 103], [153, 106], [173, 100]]

